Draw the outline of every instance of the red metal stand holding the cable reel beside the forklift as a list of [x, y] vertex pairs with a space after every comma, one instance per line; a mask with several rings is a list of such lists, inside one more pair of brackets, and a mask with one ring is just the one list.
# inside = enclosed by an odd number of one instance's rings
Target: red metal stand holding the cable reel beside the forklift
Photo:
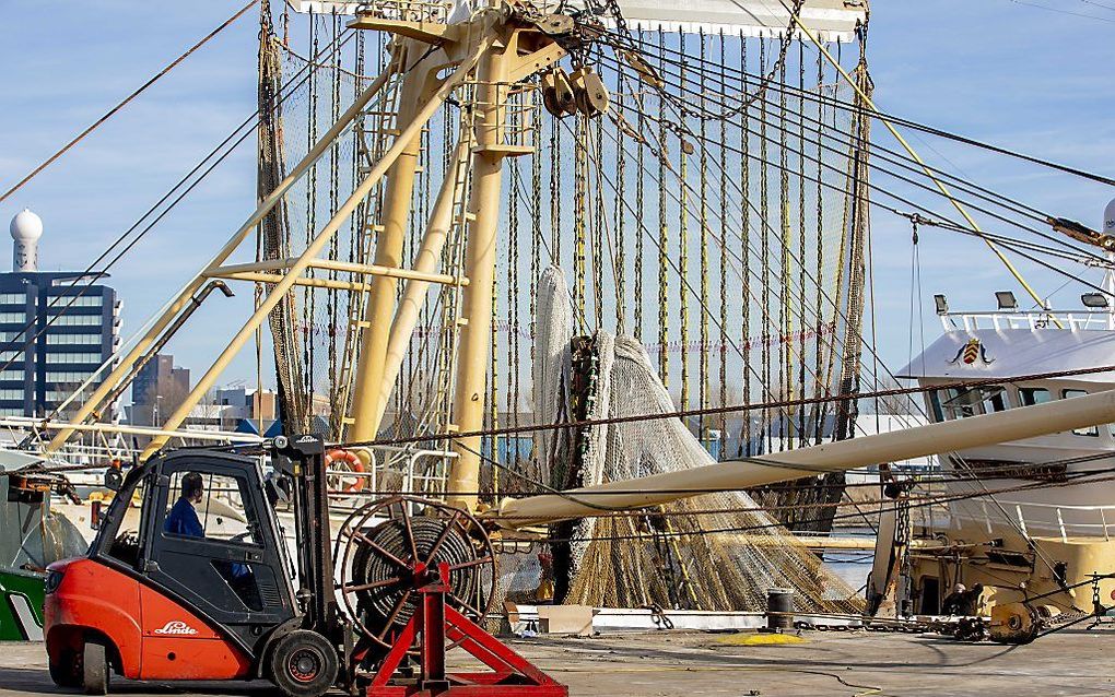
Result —
[[[569, 688], [542, 672], [511, 647], [445, 603], [449, 593], [448, 564], [439, 564], [439, 579], [418, 589], [423, 601], [396, 637], [376, 671], [366, 697], [569, 697]], [[399, 665], [420, 633], [421, 669], [415, 678], [396, 678]], [[467, 651], [491, 671], [446, 672], [449, 641]]]

